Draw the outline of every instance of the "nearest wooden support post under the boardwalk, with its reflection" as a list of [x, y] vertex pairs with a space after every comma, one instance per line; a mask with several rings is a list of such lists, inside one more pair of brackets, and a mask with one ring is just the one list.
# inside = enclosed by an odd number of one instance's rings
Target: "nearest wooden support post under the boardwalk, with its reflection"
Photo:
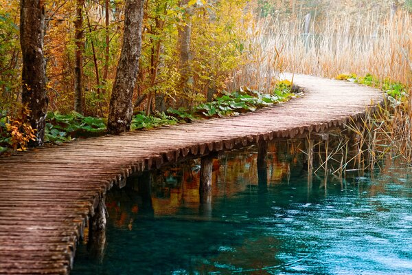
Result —
[[89, 220], [89, 242], [87, 243], [91, 256], [99, 262], [103, 261], [106, 249], [106, 217], [105, 195], [100, 195], [98, 206]]

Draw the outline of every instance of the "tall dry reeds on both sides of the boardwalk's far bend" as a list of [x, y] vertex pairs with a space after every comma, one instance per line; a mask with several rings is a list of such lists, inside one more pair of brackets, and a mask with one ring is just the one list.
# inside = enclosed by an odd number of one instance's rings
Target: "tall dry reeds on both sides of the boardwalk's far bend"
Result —
[[314, 14], [311, 21], [304, 13], [293, 19], [281, 15], [257, 17], [250, 29], [247, 61], [233, 75], [231, 88], [247, 85], [270, 92], [282, 71], [328, 78], [343, 73], [372, 74], [382, 85], [388, 80], [402, 83], [409, 94], [402, 104], [387, 104], [368, 113], [361, 122], [347, 126], [358, 138], [355, 156], [347, 155], [347, 140], [329, 155], [345, 155], [345, 160], [338, 161], [345, 166], [341, 170], [349, 168], [352, 160], [360, 167], [371, 168], [384, 155], [401, 157], [402, 162], [412, 164], [411, 13], [400, 10], [386, 17], [356, 14], [335, 12], [323, 14], [322, 19]]

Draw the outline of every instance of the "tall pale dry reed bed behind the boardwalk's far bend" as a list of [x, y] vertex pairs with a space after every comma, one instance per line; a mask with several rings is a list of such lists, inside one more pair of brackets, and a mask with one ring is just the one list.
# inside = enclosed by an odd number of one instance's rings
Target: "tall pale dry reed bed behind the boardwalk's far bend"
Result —
[[[335, 13], [310, 22], [265, 17], [251, 27], [247, 62], [233, 85], [270, 89], [277, 72], [334, 78], [343, 73], [373, 74], [410, 87], [412, 82], [412, 18], [400, 10], [394, 16]], [[305, 25], [307, 24], [306, 30]]]

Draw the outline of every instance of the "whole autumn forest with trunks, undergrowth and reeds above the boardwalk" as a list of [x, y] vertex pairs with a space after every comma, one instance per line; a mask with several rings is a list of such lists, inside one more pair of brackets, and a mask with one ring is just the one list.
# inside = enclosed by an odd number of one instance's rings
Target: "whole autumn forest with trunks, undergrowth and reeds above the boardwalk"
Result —
[[282, 71], [411, 87], [410, 0], [0, 3], [0, 153], [236, 115], [264, 102], [205, 102], [287, 98]]

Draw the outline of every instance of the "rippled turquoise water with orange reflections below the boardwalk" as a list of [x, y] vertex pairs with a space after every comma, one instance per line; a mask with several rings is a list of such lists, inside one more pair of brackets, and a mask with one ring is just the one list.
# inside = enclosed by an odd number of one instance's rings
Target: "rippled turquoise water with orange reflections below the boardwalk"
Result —
[[104, 252], [80, 244], [71, 274], [412, 274], [406, 168], [308, 179], [272, 154], [266, 184], [255, 157], [215, 160], [210, 203], [196, 164], [158, 171], [150, 188], [129, 179], [108, 193]]

